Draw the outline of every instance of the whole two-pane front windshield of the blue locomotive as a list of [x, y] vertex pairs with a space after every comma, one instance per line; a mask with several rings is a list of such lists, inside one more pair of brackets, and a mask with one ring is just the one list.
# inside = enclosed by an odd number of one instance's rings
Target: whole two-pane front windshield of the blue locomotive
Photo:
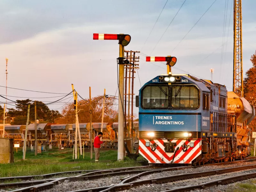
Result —
[[198, 106], [199, 92], [195, 86], [146, 86], [142, 91], [143, 108], [198, 108]]

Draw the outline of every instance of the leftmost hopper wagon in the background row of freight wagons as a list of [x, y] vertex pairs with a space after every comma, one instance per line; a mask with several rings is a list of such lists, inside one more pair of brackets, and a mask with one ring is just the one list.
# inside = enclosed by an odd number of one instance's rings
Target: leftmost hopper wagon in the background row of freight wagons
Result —
[[14, 144], [20, 144], [20, 146], [23, 146], [23, 141], [24, 141], [23, 130], [25, 129], [26, 129], [26, 125], [5, 125], [4, 137], [13, 139]]

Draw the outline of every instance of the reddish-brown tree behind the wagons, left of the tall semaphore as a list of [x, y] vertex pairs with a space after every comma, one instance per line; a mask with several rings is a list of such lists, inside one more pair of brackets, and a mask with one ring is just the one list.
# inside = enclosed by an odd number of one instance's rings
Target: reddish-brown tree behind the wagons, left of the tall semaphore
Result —
[[[109, 97], [105, 99], [104, 108], [104, 122], [114, 122], [118, 119], [118, 112], [115, 108], [115, 97]], [[102, 103], [103, 95], [92, 98], [92, 122], [101, 122], [102, 116]], [[80, 110], [80, 111], [79, 111]], [[78, 120], [79, 123], [90, 122], [90, 100], [78, 101]], [[75, 109], [74, 104], [70, 103], [64, 106], [62, 110], [62, 116], [57, 120], [60, 124], [73, 124], [75, 123]]]

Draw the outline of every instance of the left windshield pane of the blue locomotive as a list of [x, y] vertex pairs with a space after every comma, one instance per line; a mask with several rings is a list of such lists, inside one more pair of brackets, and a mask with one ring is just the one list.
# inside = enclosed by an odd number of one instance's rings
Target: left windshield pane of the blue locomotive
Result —
[[143, 108], [168, 108], [169, 87], [147, 86], [142, 93]]

